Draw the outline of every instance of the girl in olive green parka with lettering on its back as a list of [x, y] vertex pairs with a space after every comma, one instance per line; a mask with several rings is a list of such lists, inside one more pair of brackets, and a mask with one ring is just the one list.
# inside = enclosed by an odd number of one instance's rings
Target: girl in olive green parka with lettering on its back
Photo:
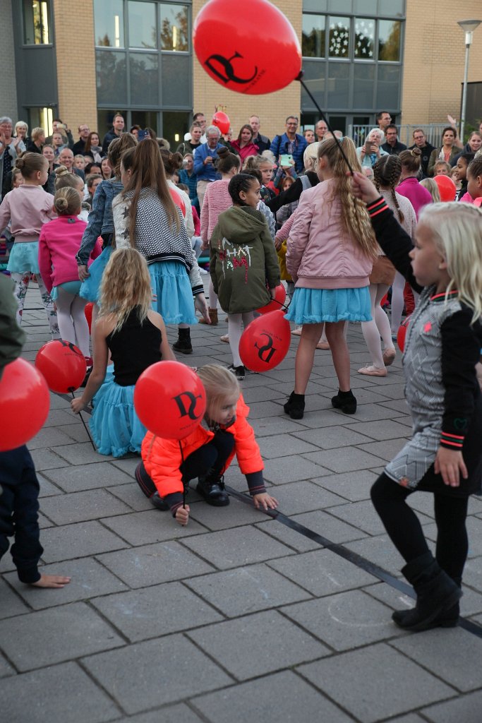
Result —
[[[221, 309], [228, 314], [231, 371], [244, 379], [239, 356], [241, 321], [244, 328], [254, 310], [270, 303], [280, 284], [280, 267], [264, 215], [257, 210], [259, 181], [236, 174], [229, 181], [232, 208], [220, 213], [210, 241], [210, 273]], [[269, 291], [268, 291], [268, 288]]]

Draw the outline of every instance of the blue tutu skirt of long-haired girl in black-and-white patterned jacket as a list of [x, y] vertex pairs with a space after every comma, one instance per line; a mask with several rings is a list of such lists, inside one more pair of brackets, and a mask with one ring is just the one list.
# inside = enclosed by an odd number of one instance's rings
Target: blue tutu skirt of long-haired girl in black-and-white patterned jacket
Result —
[[178, 261], [155, 261], [149, 265], [152, 283], [152, 309], [165, 324], [197, 324], [191, 283], [184, 265]]

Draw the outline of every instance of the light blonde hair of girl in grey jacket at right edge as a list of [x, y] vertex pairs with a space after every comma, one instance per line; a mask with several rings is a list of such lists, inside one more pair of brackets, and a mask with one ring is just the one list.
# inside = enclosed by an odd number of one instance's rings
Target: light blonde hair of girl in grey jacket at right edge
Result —
[[482, 317], [482, 210], [468, 203], [429, 204], [421, 211], [421, 225], [429, 228], [447, 262], [445, 298], [457, 289], [458, 299], [473, 309], [473, 324]]

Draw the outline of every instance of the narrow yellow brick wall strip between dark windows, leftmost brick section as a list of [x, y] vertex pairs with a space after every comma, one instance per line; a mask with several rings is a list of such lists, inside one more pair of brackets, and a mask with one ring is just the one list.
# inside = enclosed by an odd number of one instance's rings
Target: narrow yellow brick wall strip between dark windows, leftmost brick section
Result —
[[53, 0], [53, 14], [59, 116], [77, 141], [80, 124], [87, 123], [92, 131], [97, 130], [93, 3]]

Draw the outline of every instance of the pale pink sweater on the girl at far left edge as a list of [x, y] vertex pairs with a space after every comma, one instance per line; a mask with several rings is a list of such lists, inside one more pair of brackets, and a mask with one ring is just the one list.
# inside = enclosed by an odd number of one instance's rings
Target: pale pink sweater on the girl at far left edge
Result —
[[7, 193], [0, 205], [0, 233], [11, 221], [10, 231], [15, 243], [38, 241], [40, 230], [56, 216], [53, 196], [41, 186], [25, 185]]

